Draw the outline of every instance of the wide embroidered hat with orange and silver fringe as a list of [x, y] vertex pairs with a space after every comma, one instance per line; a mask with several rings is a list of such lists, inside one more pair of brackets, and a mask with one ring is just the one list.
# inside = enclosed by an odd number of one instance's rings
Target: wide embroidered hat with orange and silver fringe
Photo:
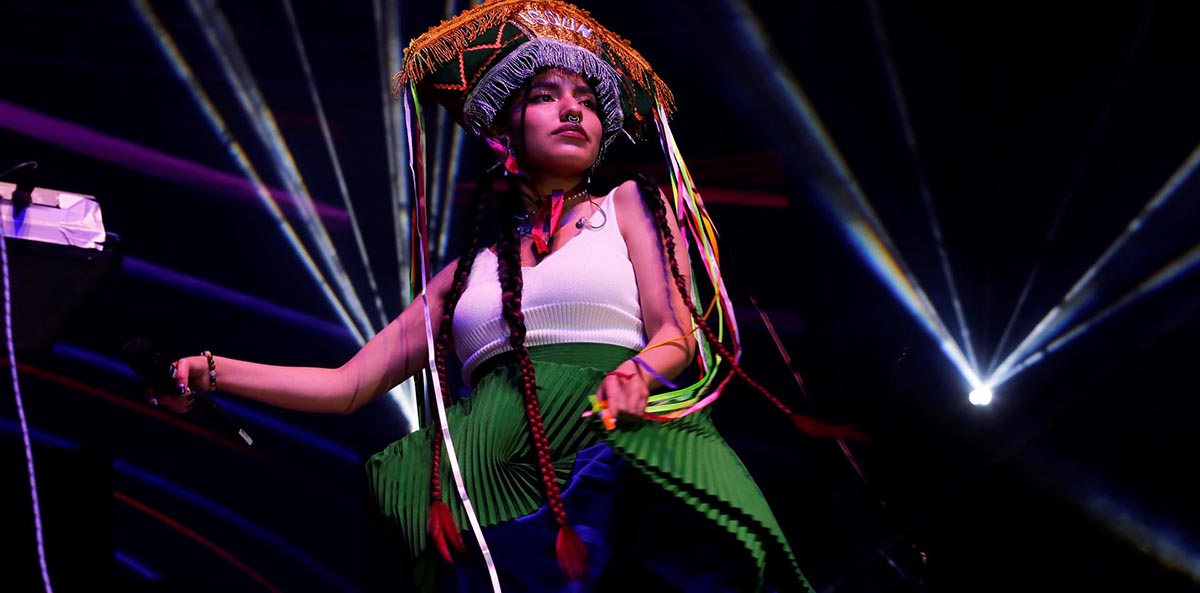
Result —
[[578, 72], [596, 92], [607, 145], [620, 132], [646, 136], [654, 109], [674, 98], [629, 42], [587, 11], [559, 0], [490, 0], [414, 38], [392, 91], [413, 84], [476, 136], [538, 71]]

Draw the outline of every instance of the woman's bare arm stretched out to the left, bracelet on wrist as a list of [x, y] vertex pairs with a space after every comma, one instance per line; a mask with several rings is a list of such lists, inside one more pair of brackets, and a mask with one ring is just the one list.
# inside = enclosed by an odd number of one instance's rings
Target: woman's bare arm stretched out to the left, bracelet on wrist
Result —
[[[430, 318], [442, 317], [442, 301], [454, 278], [454, 263], [426, 287]], [[383, 331], [376, 334], [354, 357], [337, 369], [278, 366], [214, 357], [217, 390], [271, 406], [300, 412], [348, 414], [420, 371], [428, 361], [425, 336], [425, 309], [414, 300]], [[190, 389], [209, 389], [209, 367], [204, 357], [175, 361], [176, 383]], [[158, 396], [175, 412], [184, 412], [190, 399], [175, 394]]]

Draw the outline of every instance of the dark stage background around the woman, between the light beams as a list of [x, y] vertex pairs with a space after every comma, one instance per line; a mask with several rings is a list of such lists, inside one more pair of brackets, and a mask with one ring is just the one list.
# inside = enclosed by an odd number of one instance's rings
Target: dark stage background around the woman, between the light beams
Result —
[[[1190, 4], [580, 4], [677, 95], [673, 131], [721, 233], [746, 369], [793, 408], [871, 436], [846, 449], [808, 438], [740, 387], [718, 403], [818, 591], [1200, 589]], [[362, 474], [408, 430], [389, 399], [323, 417], [218, 395], [256, 438], [246, 449], [145, 406], [120, 365], [132, 336], [170, 357], [287, 365], [336, 366], [358, 346], [275, 218], [228, 182], [244, 175], [227, 140], [282, 187], [197, 18], [186, 2], [149, 6], [228, 138], [137, 4], [0, 2], [0, 170], [36, 161], [38, 187], [95, 196], [122, 257], [89, 290], [47, 288], [82, 274], [74, 254], [7, 241], [14, 324], [61, 327], [17, 353], [23, 415], [2, 382], [0, 533], [14, 552], [0, 588], [42, 591], [23, 418], [56, 591], [403, 591]], [[366, 296], [284, 5], [217, 6], [367, 311], [390, 318], [408, 262], [376, 4], [292, 7], [383, 311]], [[401, 46], [443, 12], [402, 2]], [[653, 143], [618, 146], [608, 164], [659, 158]], [[877, 274], [890, 266], [846, 232], [847, 212], [865, 209], [954, 339], [958, 295], [980, 361], [1007, 355], [1117, 245], [1075, 319], [1097, 322], [972, 406], [938, 339]], [[1164, 270], [1169, 281], [1136, 292]], [[79, 303], [30, 322], [60, 300]]]

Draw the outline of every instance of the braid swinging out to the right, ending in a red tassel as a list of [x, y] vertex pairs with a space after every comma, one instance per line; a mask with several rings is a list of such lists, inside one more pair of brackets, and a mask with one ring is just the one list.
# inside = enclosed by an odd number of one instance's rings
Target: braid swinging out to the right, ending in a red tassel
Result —
[[676, 288], [679, 290], [679, 295], [683, 296], [684, 304], [688, 306], [688, 311], [691, 312], [692, 319], [695, 319], [696, 325], [700, 327], [701, 331], [708, 339], [709, 343], [715, 348], [725, 360], [730, 361], [730, 367], [733, 372], [742, 377], [743, 381], [755, 388], [758, 393], [767, 397], [776, 408], [782, 411], [792, 419], [798, 429], [804, 431], [804, 433], [816, 437], [816, 438], [835, 438], [839, 441], [866, 441], [866, 435], [864, 435], [857, 426], [832, 424], [824, 420], [818, 420], [812, 417], [804, 414], [797, 414], [792, 412], [784, 402], [775, 397], [767, 388], [758, 384], [757, 381], [750, 378], [750, 376], [742, 369], [742, 365], [737, 364], [737, 358], [728, 348], [721, 343], [716, 334], [712, 328], [704, 323], [704, 318], [701, 312], [696, 309], [696, 304], [691, 300], [691, 294], [688, 290], [688, 283], [679, 272], [679, 262], [676, 259], [676, 242], [674, 236], [671, 234], [671, 227], [667, 226], [667, 212], [666, 206], [662, 204], [662, 199], [659, 196], [658, 186], [646, 176], [638, 176], [638, 192], [642, 194], [642, 202], [646, 203], [647, 208], [654, 215], [655, 226], [659, 228], [659, 234], [662, 236], [662, 241], [666, 245], [667, 258], [671, 263], [671, 275], [674, 276]]

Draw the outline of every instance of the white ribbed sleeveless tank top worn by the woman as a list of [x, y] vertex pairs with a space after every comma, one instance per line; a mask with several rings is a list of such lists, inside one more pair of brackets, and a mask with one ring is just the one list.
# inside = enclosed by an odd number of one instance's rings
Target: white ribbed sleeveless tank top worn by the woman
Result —
[[[598, 211], [589, 218], [593, 226], [605, 221], [602, 227], [584, 227], [538, 265], [522, 269], [526, 346], [598, 342], [646, 347], [637, 281], [617, 223], [614, 193], [604, 197], [604, 215]], [[480, 250], [454, 313], [455, 351], [467, 382], [481, 363], [512, 349], [500, 312], [496, 264], [492, 250]]]

